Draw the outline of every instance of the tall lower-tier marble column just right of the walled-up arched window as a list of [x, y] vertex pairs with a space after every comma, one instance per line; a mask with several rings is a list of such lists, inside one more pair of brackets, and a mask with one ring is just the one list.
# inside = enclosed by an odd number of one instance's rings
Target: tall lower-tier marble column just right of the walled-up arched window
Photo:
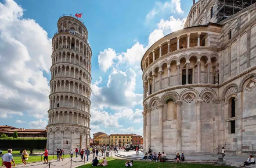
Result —
[[181, 104], [182, 101], [178, 100], [175, 102], [177, 106], [177, 132], [176, 132], [176, 137], [177, 137], [177, 152], [181, 151]]

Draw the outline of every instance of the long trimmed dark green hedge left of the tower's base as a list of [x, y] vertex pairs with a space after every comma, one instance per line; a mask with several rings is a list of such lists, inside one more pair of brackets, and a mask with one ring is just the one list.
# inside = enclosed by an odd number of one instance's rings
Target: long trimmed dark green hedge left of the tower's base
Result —
[[0, 139], [0, 149], [19, 148], [19, 149], [43, 149], [46, 147], [47, 139]]

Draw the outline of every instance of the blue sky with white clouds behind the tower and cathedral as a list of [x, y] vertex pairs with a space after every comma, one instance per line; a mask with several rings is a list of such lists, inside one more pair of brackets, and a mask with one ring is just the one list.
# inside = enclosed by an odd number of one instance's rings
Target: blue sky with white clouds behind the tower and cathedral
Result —
[[191, 6], [192, 0], [0, 0], [0, 125], [47, 125], [51, 38], [62, 14], [83, 13], [92, 49], [91, 133], [142, 135], [141, 57], [183, 27]]

